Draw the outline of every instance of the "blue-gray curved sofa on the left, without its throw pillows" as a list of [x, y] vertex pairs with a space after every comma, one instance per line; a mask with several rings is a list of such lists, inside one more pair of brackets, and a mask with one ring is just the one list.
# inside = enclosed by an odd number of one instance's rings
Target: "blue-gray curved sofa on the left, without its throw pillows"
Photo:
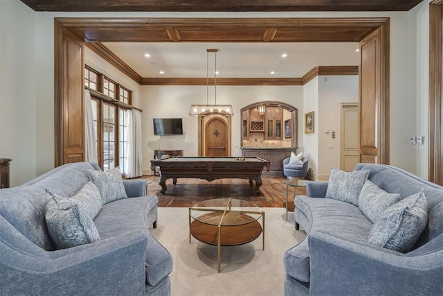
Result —
[[100, 241], [55, 250], [45, 224], [46, 189], [66, 197], [89, 181], [87, 162], [66, 164], [0, 190], [0, 295], [170, 295], [172, 257], [152, 237], [156, 195], [125, 180], [129, 198], [93, 219]]

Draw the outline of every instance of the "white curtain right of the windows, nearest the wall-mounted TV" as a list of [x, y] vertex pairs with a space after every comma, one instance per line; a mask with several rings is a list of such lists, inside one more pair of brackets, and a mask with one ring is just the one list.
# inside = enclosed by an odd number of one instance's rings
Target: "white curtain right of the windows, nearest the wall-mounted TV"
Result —
[[141, 141], [141, 112], [138, 110], [127, 110], [127, 136], [125, 155], [127, 162], [125, 165], [125, 177], [140, 177], [143, 175], [142, 164], [142, 141]]

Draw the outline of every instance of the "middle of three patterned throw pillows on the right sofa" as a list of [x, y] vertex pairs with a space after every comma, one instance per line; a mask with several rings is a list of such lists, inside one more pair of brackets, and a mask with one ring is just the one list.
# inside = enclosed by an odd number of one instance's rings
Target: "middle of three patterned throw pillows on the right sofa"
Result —
[[387, 193], [379, 186], [366, 180], [359, 195], [359, 208], [372, 223], [379, 218], [380, 214], [388, 207], [400, 200], [397, 193]]

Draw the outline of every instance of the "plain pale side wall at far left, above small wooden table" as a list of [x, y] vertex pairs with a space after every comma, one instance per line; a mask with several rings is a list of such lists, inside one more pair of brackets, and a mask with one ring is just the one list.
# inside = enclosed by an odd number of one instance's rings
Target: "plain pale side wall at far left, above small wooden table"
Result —
[[0, 1], [0, 157], [12, 159], [10, 186], [36, 175], [36, 62], [35, 12]]

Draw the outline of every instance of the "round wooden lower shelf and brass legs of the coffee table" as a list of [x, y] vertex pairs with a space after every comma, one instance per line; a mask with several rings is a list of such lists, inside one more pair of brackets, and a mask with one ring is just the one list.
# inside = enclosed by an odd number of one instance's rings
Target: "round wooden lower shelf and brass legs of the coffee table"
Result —
[[[215, 221], [220, 218], [230, 216], [236, 220], [243, 220], [242, 225], [211, 225], [201, 222], [202, 220]], [[264, 223], [264, 212], [262, 213], [262, 223]], [[263, 250], [264, 250], [264, 224], [260, 223], [244, 213], [230, 212], [228, 215], [222, 211], [211, 212], [199, 217], [199, 220], [193, 220], [189, 225], [189, 243], [191, 243], [191, 235], [202, 243], [209, 245], [217, 245], [217, 269], [220, 272], [220, 252], [221, 246], [243, 245], [250, 243], [260, 236], [263, 232]]]

